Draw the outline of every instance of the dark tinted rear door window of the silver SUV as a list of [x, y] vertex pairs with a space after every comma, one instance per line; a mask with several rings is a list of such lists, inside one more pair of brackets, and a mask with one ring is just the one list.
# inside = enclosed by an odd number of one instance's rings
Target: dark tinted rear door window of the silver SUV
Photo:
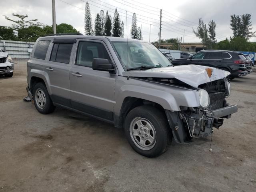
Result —
[[50, 60], [68, 64], [72, 46], [73, 43], [54, 43]]

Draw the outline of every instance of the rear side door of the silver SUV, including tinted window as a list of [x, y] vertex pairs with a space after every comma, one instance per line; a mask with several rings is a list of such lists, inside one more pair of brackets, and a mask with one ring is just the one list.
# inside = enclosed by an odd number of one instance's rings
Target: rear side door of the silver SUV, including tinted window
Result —
[[71, 52], [76, 40], [56, 39], [51, 46], [51, 54], [44, 71], [48, 75], [48, 84], [54, 103], [70, 106], [69, 71], [71, 69]]

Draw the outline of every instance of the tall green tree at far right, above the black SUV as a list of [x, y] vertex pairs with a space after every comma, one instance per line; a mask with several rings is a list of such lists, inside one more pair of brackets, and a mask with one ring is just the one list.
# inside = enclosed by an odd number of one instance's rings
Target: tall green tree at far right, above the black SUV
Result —
[[231, 15], [230, 28], [233, 31], [233, 37], [243, 37], [246, 40], [255, 37], [256, 32], [252, 32], [251, 14]]

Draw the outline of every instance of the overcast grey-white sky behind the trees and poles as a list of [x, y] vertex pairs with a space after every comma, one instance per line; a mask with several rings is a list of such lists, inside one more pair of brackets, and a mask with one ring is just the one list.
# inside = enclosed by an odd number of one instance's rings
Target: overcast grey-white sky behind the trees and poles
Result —
[[[84, 6], [86, 0], [55, 0], [56, 1], [56, 23], [67, 23], [74, 26], [84, 34]], [[140, 2], [140, 3], [138, 3]], [[92, 13], [92, 20], [101, 9], [108, 10], [114, 15], [117, 8], [121, 20], [125, 24], [126, 37], [126, 11], [128, 38], [130, 38], [130, 25], [132, 13], [137, 14], [137, 25], [142, 27], [143, 40], [150, 42], [158, 40], [160, 9], [162, 11], [162, 33], [161, 39], [180, 38], [184, 42], [200, 42], [192, 32], [196, 28], [198, 18], [205, 23], [214, 20], [217, 24], [217, 40], [224, 40], [232, 36], [230, 29], [231, 14], [252, 15], [253, 30], [256, 31], [256, 0], [88, 0]], [[38, 18], [39, 22], [52, 25], [52, 0], [1, 0], [1, 14], [10, 18], [12, 13], [26, 15], [30, 19]], [[0, 16], [0, 25], [11, 26], [12, 22]], [[256, 38], [250, 41], [256, 42]]]

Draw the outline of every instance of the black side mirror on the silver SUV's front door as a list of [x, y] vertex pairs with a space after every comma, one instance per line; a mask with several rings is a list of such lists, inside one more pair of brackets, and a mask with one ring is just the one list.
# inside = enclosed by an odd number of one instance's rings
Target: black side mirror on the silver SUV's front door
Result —
[[116, 74], [116, 70], [108, 59], [94, 58], [92, 60], [92, 69], [97, 71], [108, 71], [111, 74]]

